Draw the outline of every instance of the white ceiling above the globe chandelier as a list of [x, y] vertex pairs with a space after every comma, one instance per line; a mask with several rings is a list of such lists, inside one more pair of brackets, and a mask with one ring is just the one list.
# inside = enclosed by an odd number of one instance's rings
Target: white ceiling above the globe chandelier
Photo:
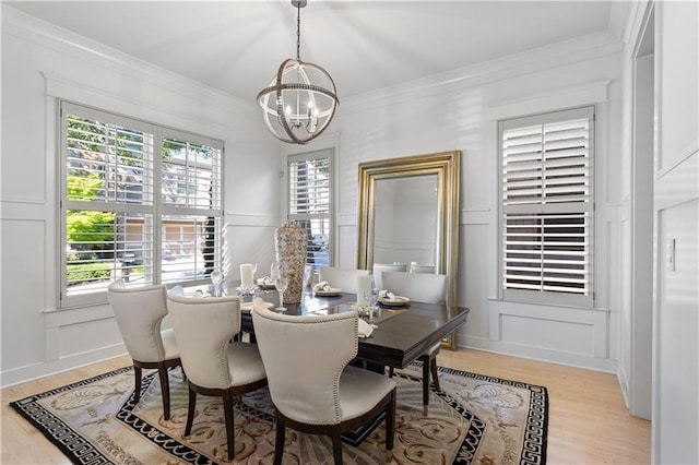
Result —
[[[296, 56], [289, 0], [4, 1], [254, 102]], [[332, 1], [301, 9], [300, 58], [356, 96], [580, 36], [614, 33], [614, 1]], [[616, 10], [615, 10], [616, 9]]]

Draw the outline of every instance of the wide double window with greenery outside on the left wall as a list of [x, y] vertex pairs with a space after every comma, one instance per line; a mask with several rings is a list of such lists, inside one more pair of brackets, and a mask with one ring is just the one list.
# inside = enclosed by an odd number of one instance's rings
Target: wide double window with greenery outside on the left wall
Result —
[[221, 266], [223, 142], [61, 103], [61, 307]]

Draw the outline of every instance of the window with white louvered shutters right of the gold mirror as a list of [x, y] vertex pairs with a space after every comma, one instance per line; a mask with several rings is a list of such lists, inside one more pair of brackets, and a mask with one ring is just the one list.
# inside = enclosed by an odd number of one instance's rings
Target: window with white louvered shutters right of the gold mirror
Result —
[[591, 307], [594, 108], [500, 122], [507, 300]]

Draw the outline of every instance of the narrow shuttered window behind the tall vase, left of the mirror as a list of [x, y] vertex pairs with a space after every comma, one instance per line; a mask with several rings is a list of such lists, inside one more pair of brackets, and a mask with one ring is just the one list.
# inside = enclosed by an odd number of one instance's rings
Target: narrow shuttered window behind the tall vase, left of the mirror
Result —
[[288, 219], [308, 230], [306, 263], [317, 272], [331, 264], [332, 153], [291, 156], [288, 174]]

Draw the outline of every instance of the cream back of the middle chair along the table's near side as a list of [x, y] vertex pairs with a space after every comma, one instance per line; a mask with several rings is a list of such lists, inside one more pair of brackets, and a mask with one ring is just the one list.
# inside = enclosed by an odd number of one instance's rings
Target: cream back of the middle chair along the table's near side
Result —
[[202, 388], [230, 386], [227, 347], [240, 331], [240, 298], [186, 297], [168, 293], [175, 338], [187, 378]]

